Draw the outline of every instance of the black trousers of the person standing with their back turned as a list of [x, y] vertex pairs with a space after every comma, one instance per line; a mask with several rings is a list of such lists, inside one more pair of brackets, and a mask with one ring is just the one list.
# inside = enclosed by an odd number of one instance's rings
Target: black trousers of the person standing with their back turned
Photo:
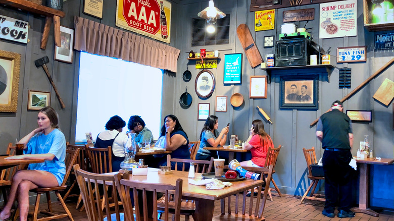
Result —
[[338, 211], [350, 211], [352, 207], [352, 183], [356, 173], [349, 165], [351, 159], [350, 150], [325, 150], [323, 153], [326, 210], [333, 212], [338, 206]]

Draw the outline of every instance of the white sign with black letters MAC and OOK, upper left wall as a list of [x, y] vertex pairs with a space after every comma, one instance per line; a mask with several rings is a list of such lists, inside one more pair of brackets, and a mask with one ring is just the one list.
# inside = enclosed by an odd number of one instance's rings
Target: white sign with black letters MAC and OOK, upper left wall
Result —
[[27, 44], [29, 23], [0, 15], [0, 38]]

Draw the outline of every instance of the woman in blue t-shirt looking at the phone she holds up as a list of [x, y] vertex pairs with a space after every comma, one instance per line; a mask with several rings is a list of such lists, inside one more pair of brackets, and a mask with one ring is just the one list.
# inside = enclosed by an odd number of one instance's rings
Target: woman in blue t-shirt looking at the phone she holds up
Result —
[[200, 134], [200, 147], [195, 155], [195, 159], [210, 160], [211, 157], [215, 157], [215, 153], [203, 148], [223, 146], [226, 143], [228, 126], [223, 128], [220, 133], [217, 131], [218, 127], [218, 117], [215, 115], [209, 116]]

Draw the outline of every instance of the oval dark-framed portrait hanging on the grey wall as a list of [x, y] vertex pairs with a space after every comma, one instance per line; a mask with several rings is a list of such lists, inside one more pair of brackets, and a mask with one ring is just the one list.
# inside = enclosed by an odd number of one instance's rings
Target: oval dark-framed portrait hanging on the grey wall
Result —
[[202, 98], [211, 96], [215, 89], [215, 77], [210, 70], [202, 70], [195, 78], [195, 93]]

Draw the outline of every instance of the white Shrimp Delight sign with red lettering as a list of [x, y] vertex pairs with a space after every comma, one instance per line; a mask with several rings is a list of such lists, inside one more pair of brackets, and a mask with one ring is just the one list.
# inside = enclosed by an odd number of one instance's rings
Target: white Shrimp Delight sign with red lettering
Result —
[[319, 38], [357, 36], [357, 0], [320, 4]]

